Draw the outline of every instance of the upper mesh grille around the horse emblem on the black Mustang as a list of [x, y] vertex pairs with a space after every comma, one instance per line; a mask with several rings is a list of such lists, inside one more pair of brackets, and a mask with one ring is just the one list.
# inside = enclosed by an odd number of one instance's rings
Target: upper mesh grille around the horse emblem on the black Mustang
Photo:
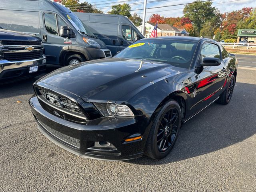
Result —
[[[47, 100], [46, 94], [48, 94], [49, 92], [47, 90], [45, 90], [45, 89], [42, 89], [42, 88], [39, 89], [39, 92]], [[56, 95], [56, 94], [54, 94], [54, 95]], [[57, 97], [60, 100], [60, 106], [62, 108], [67, 109], [67, 110], [72, 111], [72, 112], [83, 114], [83, 112], [80, 110], [80, 108], [76, 105], [76, 103], [74, 101], [72, 101], [72, 100], [70, 100], [68, 98], [65, 98], [63, 96], [60, 96], [60, 95], [58, 95]]]

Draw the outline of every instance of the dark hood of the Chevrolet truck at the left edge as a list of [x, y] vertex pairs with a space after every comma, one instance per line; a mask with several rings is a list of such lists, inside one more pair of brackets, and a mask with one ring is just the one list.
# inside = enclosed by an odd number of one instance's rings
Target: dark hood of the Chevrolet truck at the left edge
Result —
[[0, 36], [1, 40], [41, 41], [40, 38], [34, 35], [4, 29], [0, 29]]

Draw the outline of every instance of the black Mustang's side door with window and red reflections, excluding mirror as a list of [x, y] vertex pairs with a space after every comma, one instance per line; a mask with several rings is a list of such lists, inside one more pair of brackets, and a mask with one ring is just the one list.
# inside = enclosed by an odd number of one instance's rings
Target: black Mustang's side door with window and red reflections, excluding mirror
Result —
[[[200, 63], [204, 57], [220, 58], [221, 64], [218, 66], [200, 67]], [[197, 95], [200, 98], [198, 109], [200, 110], [220, 96], [226, 82], [227, 67], [222, 60], [220, 47], [214, 42], [205, 42], [202, 45], [200, 59], [197, 64], [200, 70], [200, 82], [197, 87]]]

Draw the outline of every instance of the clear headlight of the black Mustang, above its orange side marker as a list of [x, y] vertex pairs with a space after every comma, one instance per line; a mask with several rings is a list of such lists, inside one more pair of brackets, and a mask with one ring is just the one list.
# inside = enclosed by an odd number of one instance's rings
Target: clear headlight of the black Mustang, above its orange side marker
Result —
[[94, 103], [103, 116], [134, 117], [132, 110], [126, 105], [113, 103]]

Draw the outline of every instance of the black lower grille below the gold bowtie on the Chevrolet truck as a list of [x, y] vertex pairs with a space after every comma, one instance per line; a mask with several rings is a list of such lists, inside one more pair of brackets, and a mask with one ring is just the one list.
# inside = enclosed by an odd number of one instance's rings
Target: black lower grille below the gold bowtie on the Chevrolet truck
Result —
[[20, 52], [20, 53], [5, 53], [4, 58], [8, 61], [21, 61], [39, 59], [42, 57], [43, 51]]

